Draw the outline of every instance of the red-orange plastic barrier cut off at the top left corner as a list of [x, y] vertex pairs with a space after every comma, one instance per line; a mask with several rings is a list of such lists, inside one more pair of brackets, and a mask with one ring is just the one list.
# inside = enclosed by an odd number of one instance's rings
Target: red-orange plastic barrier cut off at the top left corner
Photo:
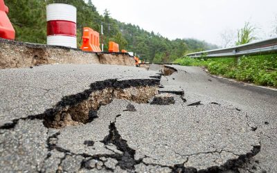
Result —
[[15, 29], [8, 19], [8, 7], [0, 0], [0, 37], [4, 39], [15, 39]]

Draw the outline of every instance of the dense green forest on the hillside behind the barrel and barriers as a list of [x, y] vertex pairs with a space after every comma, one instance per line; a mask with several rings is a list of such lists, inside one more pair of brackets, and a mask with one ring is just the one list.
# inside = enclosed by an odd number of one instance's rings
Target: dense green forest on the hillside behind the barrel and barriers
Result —
[[90, 0], [88, 3], [83, 0], [6, 0], [5, 3], [10, 8], [8, 16], [16, 30], [16, 40], [22, 42], [46, 44], [46, 5], [68, 3], [78, 11], [78, 46], [82, 43], [83, 27], [88, 26], [100, 33], [103, 24], [105, 51], [107, 42], [115, 41], [120, 49], [134, 52], [148, 62], [172, 62], [185, 53], [217, 48], [196, 39], [170, 40], [159, 33], [112, 19], [108, 10], [100, 15]]

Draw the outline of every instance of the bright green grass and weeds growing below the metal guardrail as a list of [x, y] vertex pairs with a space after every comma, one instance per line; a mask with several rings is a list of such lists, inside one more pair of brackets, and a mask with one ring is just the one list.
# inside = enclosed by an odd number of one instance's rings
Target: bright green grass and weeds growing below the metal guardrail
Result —
[[174, 63], [182, 66], [204, 66], [213, 75], [252, 82], [262, 86], [277, 88], [277, 55], [240, 57], [238, 64], [233, 58], [193, 59], [184, 57]]

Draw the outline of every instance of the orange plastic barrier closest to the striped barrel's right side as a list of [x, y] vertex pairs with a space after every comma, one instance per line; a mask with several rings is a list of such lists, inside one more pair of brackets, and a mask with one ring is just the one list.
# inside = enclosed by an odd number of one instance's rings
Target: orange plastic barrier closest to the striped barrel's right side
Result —
[[99, 33], [89, 27], [84, 27], [82, 35], [82, 51], [102, 52], [99, 43]]

